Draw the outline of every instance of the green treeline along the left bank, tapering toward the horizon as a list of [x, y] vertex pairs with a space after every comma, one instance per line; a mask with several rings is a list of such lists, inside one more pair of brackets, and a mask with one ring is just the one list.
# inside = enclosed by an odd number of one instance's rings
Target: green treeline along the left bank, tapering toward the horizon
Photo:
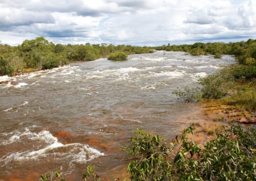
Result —
[[12, 76], [16, 72], [48, 69], [69, 62], [89, 61], [106, 57], [114, 52], [125, 54], [152, 53], [150, 47], [131, 45], [54, 45], [53, 42], [39, 37], [25, 40], [21, 45], [10, 46], [0, 44], [0, 75]]

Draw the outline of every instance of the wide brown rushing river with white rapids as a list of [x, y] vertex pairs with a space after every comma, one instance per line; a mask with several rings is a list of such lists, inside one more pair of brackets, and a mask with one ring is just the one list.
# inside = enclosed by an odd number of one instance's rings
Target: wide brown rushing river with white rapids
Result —
[[193, 106], [177, 101], [176, 87], [233, 63], [159, 51], [0, 77], [14, 81], [0, 84], [0, 179], [61, 169], [78, 180], [88, 164], [118, 175], [127, 163], [119, 147], [137, 127], [173, 137], [188, 126], [178, 117]]

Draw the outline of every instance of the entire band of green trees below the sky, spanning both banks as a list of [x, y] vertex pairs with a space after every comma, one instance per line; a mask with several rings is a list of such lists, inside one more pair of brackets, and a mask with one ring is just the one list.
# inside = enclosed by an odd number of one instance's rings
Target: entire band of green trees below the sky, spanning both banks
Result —
[[239, 63], [256, 65], [256, 40], [236, 43], [195, 43], [193, 45], [162, 45], [157, 47], [132, 45], [55, 45], [53, 42], [39, 37], [25, 40], [21, 45], [10, 46], [0, 44], [0, 76], [12, 76], [16, 72], [48, 69], [69, 62], [89, 61], [107, 57], [115, 52], [129, 54], [152, 53], [155, 50], [182, 51], [190, 55], [215, 55], [221, 58], [223, 54], [235, 55]]

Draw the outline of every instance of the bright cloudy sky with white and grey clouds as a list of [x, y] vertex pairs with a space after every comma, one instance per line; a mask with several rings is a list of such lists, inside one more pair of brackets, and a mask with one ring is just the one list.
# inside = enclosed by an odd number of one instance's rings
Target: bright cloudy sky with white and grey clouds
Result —
[[0, 0], [0, 41], [171, 45], [256, 39], [256, 0]]

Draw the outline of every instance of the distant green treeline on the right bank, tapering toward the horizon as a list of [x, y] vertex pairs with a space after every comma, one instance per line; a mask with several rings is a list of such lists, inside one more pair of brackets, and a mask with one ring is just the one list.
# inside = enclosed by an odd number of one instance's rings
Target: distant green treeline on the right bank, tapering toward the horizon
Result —
[[235, 55], [239, 63], [246, 64], [247, 58], [256, 59], [256, 39], [236, 43], [195, 43], [193, 45], [162, 45], [154, 47], [155, 50], [188, 52], [190, 55], [215, 55], [221, 58], [223, 54]]

